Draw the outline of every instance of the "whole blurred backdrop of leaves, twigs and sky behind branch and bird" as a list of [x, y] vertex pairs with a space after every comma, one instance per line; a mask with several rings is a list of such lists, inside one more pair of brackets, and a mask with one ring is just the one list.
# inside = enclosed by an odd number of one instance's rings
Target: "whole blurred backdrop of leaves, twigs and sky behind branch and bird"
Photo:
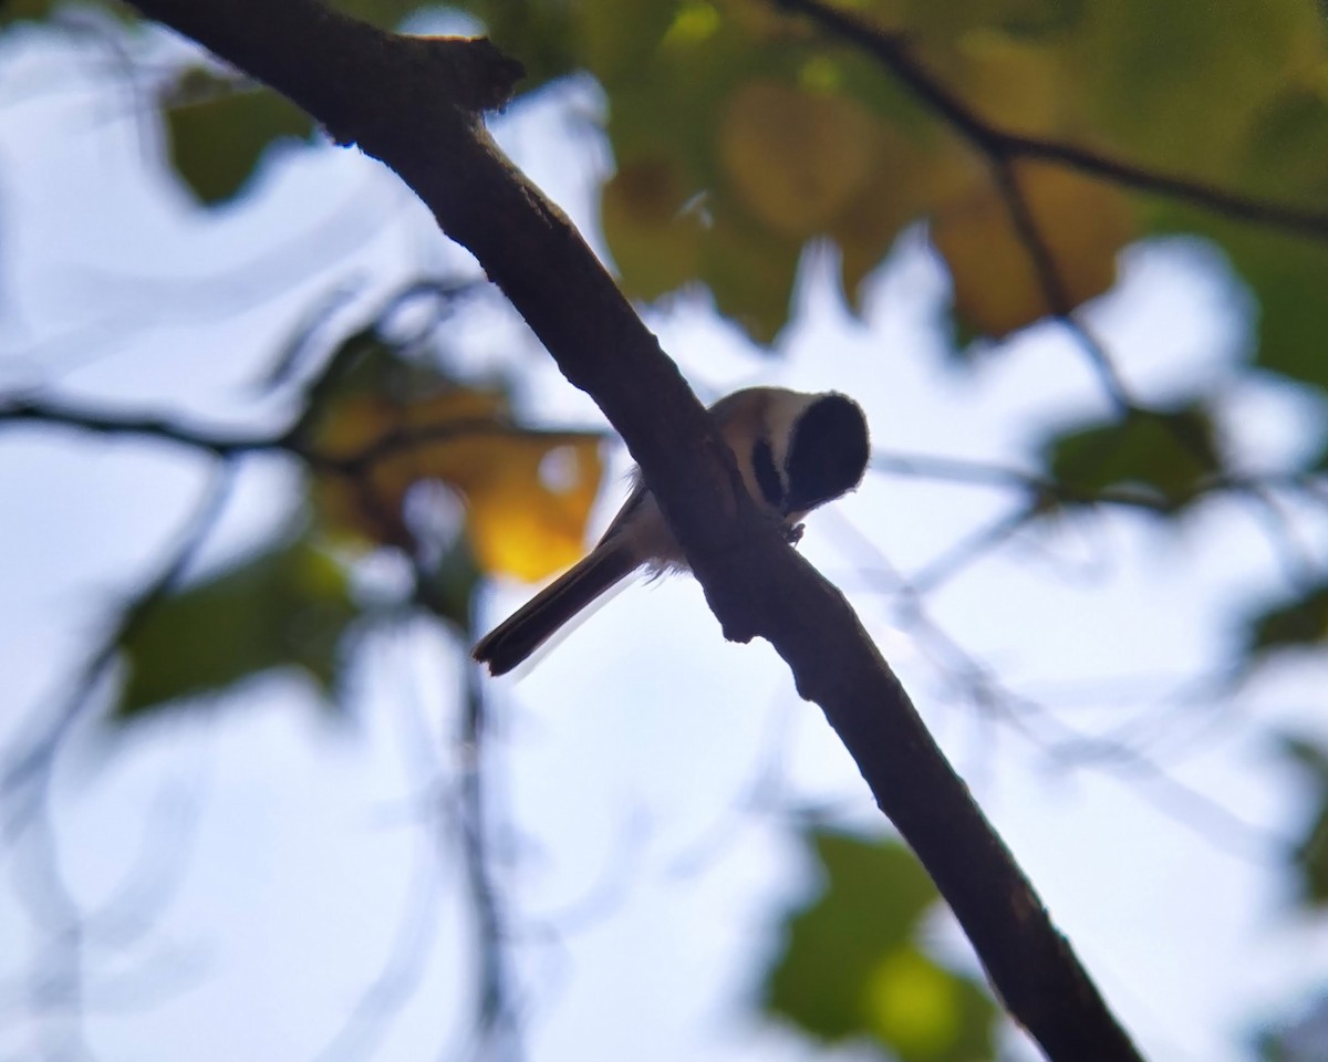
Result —
[[[526, 65], [703, 401], [862, 402], [799, 548], [1141, 1050], [1328, 1059], [1317, 5], [336, 7]], [[629, 458], [390, 171], [41, 0], [0, 159], [0, 1058], [1037, 1057], [689, 579], [469, 662]]]

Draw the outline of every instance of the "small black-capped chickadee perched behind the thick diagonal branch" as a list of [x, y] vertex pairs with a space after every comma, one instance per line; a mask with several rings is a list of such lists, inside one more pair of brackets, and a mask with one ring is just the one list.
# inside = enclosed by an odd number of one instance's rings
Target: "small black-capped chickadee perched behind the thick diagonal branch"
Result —
[[[737, 458], [748, 494], [789, 528], [823, 502], [862, 482], [867, 419], [835, 392], [803, 394], [748, 388], [710, 406], [720, 434]], [[636, 486], [594, 550], [485, 635], [471, 656], [505, 674], [525, 661], [591, 601], [643, 564], [656, 573], [685, 569], [687, 560], [655, 496]]]

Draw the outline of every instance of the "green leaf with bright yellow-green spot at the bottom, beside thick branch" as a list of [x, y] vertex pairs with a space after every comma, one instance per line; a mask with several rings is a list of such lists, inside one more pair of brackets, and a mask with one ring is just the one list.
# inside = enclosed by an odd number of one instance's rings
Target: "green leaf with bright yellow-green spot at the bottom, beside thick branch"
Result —
[[900, 1062], [991, 1057], [995, 1004], [914, 943], [938, 895], [912, 854], [839, 834], [810, 839], [826, 888], [790, 916], [766, 1008], [817, 1039], [865, 1038]]

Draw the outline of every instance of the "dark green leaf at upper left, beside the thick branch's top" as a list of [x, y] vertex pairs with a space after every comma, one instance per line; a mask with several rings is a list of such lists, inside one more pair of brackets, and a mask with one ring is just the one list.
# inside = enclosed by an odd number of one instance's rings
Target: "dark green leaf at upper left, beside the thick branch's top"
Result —
[[186, 72], [173, 96], [178, 102], [165, 108], [170, 161], [207, 206], [235, 196], [270, 145], [313, 131], [313, 119], [286, 97], [210, 70]]

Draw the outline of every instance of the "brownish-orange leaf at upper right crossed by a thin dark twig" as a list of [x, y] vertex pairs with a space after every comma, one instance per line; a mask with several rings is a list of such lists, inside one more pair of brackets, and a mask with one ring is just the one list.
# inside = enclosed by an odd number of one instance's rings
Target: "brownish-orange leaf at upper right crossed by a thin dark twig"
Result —
[[[1129, 199], [1054, 166], [1019, 163], [1015, 177], [1070, 305], [1110, 288], [1116, 255], [1135, 232]], [[976, 331], [1004, 336], [1053, 312], [1033, 255], [989, 177], [936, 210], [931, 239], [950, 266], [955, 308]]]

